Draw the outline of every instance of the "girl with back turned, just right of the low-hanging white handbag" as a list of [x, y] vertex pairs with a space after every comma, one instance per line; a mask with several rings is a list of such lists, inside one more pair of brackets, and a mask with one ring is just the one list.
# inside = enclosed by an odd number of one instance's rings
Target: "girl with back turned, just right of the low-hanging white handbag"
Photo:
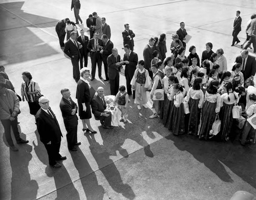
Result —
[[238, 104], [239, 96], [237, 92], [233, 92], [233, 86], [231, 82], [227, 82], [224, 85], [226, 93], [221, 95], [221, 132], [220, 137], [222, 141], [228, 141], [233, 124], [232, 109], [234, 104]]

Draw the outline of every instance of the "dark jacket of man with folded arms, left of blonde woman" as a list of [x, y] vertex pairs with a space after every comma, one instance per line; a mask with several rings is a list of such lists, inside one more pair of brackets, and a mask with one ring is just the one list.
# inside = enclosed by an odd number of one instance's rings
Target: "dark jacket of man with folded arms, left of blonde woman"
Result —
[[72, 115], [72, 110], [76, 109], [77, 113], [77, 105], [73, 100], [70, 98], [70, 101], [68, 101], [66, 98], [61, 98], [59, 103], [59, 108], [62, 113], [63, 121], [65, 124], [65, 128], [68, 131], [69, 128], [76, 127], [78, 124], [78, 118], [77, 115]]

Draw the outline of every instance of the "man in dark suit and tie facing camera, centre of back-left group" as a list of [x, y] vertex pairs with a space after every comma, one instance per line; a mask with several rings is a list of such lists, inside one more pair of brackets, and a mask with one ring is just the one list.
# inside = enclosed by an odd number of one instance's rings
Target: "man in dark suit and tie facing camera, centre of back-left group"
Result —
[[87, 45], [87, 48], [91, 52], [91, 62], [92, 62], [92, 79], [95, 79], [96, 65], [98, 65], [98, 76], [101, 77], [101, 65], [102, 65], [102, 56], [100, 50], [103, 48], [104, 44], [102, 39], [99, 38], [99, 33], [95, 32], [94, 38], [90, 39]]

